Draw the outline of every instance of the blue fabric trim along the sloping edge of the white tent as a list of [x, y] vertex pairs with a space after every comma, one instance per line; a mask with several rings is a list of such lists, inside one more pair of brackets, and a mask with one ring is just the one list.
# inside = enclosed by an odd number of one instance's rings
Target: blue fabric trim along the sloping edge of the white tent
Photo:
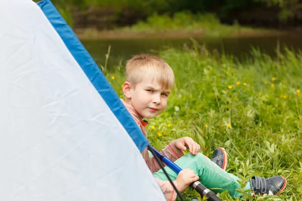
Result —
[[81, 66], [94, 87], [105, 100], [110, 110], [123, 125], [137, 148], [142, 152], [149, 143], [120, 101], [118, 95], [100, 70], [99, 66], [95, 63], [84, 45], [49, 0], [42, 0], [38, 2], [37, 5], [44, 12], [74, 59]]

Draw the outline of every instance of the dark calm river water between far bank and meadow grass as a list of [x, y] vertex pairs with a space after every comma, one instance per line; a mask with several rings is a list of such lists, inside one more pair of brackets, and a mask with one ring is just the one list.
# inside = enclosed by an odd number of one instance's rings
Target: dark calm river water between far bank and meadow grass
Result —
[[[199, 44], [205, 44], [209, 51], [224, 52], [228, 55], [235, 55], [243, 60], [250, 55], [252, 47], [259, 48], [273, 58], [276, 57], [277, 41], [279, 40], [280, 50], [284, 47], [299, 50], [302, 49], [302, 34], [288, 35], [282, 37], [239, 37], [239, 38], [202, 38], [196, 39]], [[191, 47], [192, 41], [189, 38], [175, 39], [98, 39], [82, 40], [82, 43], [90, 52], [99, 65], [104, 65], [105, 54], [108, 46], [111, 45], [108, 68], [125, 62], [131, 55], [140, 53], [154, 53], [166, 48], [182, 48], [184, 44]]]

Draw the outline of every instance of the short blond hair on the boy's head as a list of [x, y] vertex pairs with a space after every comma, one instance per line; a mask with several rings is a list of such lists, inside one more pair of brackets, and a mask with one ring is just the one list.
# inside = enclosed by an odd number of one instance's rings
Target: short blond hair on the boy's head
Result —
[[153, 76], [163, 88], [171, 89], [174, 84], [173, 70], [157, 56], [140, 54], [126, 62], [126, 81], [134, 87], [142, 81], [144, 75]]

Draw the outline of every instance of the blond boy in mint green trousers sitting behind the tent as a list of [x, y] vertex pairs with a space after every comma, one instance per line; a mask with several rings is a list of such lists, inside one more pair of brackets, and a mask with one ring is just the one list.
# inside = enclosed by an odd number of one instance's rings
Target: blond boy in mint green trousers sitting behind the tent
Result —
[[[144, 118], [153, 119], [166, 108], [168, 96], [174, 83], [174, 73], [171, 67], [163, 60], [153, 55], [136, 55], [127, 61], [126, 81], [123, 84], [125, 100], [122, 100], [133, 119], [147, 136]], [[184, 155], [182, 151], [187, 148], [190, 154]], [[213, 163], [209, 158], [198, 153], [200, 146], [192, 138], [184, 137], [172, 141], [162, 153], [180, 166], [183, 170], [177, 175], [169, 167], [165, 167], [169, 176], [174, 180], [177, 189], [182, 193], [189, 185], [199, 180], [207, 188], [216, 188], [215, 193], [228, 189], [235, 197], [242, 196], [236, 189], [240, 188], [239, 178], [225, 170], [226, 154], [223, 149], [216, 149]], [[218, 153], [218, 154], [217, 154]], [[162, 188], [167, 200], [175, 200], [176, 192], [155, 161], [150, 157], [147, 149], [142, 156], [149, 169], [153, 172], [157, 182]], [[286, 186], [283, 176], [274, 176], [268, 179], [254, 176], [248, 182], [246, 189], [254, 193], [278, 194]], [[219, 189], [217, 189], [219, 188]]]

